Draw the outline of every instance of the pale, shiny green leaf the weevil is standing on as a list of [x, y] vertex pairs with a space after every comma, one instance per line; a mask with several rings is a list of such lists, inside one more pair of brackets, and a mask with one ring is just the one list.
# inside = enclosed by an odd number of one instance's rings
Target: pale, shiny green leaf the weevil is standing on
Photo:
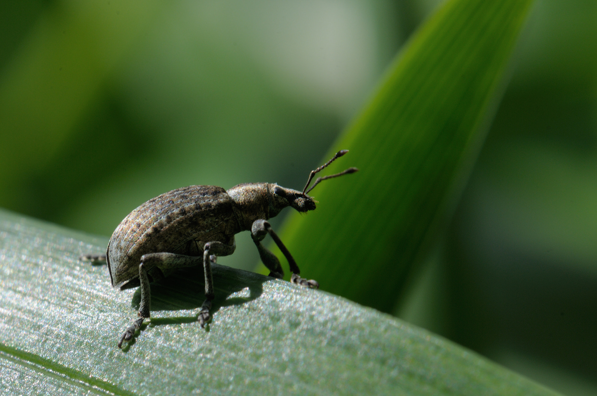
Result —
[[0, 375], [20, 394], [553, 395], [426, 330], [338, 296], [214, 265], [152, 285], [136, 342], [116, 342], [139, 292], [78, 261], [107, 239], [0, 211]]

